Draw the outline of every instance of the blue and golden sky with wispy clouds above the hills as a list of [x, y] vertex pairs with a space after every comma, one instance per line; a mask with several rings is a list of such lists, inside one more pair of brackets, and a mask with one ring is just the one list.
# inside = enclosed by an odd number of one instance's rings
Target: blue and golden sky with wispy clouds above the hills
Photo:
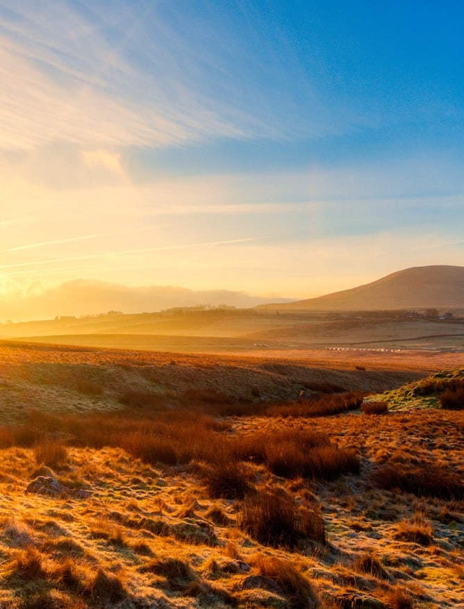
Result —
[[464, 265], [463, 23], [458, 0], [0, 0], [0, 321]]

